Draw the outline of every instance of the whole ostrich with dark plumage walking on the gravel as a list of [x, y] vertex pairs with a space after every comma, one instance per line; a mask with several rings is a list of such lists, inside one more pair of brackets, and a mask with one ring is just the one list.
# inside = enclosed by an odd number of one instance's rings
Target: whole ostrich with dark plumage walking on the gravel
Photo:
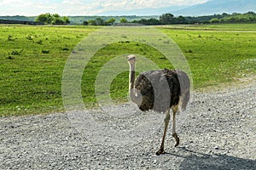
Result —
[[166, 130], [170, 121], [170, 109], [172, 108], [172, 137], [176, 140], [175, 147], [179, 144], [176, 133], [176, 114], [185, 110], [189, 102], [189, 77], [183, 71], [168, 69], [143, 72], [135, 81], [136, 56], [129, 55], [129, 95], [131, 101], [136, 103], [141, 111], [165, 112], [165, 128], [160, 144], [160, 150], [156, 155], [164, 154]]

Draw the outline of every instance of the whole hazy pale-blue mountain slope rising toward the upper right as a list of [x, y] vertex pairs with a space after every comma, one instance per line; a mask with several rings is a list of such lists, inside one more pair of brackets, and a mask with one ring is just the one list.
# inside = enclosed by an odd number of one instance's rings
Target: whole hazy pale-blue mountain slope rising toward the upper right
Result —
[[201, 16], [223, 13], [256, 12], [256, 0], [209, 0], [192, 6], [170, 6], [166, 8], [142, 8], [106, 11], [101, 15], [160, 15], [172, 13], [183, 16]]

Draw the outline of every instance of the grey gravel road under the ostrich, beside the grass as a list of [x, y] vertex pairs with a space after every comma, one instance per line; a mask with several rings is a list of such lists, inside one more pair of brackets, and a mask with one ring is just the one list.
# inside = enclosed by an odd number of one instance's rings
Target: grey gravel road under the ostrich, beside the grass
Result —
[[180, 145], [174, 147], [171, 123], [161, 156], [155, 151], [163, 114], [142, 113], [129, 104], [113, 106], [133, 113], [128, 116], [90, 111], [95, 116], [90, 124], [88, 111], [80, 121], [83, 111], [2, 117], [0, 169], [256, 169], [255, 85], [193, 93], [177, 130]]

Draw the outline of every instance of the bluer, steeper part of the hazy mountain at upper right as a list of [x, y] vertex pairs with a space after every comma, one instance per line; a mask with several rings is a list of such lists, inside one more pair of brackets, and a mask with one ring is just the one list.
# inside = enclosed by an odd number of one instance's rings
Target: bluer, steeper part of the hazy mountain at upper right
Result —
[[256, 0], [211, 0], [188, 8], [172, 11], [172, 14], [183, 16], [201, 16], [222, 13], [256, 12]]

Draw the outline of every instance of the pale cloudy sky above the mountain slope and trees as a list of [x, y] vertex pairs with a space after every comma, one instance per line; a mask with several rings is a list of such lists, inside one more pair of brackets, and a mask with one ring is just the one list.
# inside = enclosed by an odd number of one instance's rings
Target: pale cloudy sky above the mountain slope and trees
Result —
[[96, 15], [113, 10], [161, 8], [205, 3], [207, 0], [0, 0], [0, 15], [51, 13], [61, 15]]

